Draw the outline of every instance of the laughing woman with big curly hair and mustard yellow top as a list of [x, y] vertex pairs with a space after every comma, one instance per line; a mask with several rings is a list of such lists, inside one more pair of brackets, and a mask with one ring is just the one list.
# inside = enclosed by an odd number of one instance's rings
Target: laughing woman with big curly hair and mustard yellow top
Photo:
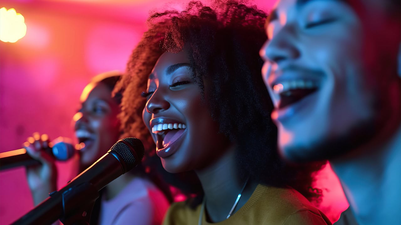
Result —
[[258, 55], [265, 18], [236, 1], [190, 2], [150, 16], [132, 53], [117, 86], [124, 131], [138, 134], [142, 114], [139, 130], [152, 134], [164, 169], [195, 171], [204, 193], [174, 203], [165, 225], [331, 224], [302, 195], [318, 197], [311, 173], [321, 164], [289, 166], [277, 155]]

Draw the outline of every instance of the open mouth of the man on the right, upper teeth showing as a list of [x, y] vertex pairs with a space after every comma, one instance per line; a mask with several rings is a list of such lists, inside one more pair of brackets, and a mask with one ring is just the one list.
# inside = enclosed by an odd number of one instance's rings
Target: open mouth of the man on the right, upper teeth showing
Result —
[[289, 80], [273, 84], [273, 92], [280, 96], [278, 108], [294, 104], [318, 90], [318, 82], [312, 80]]

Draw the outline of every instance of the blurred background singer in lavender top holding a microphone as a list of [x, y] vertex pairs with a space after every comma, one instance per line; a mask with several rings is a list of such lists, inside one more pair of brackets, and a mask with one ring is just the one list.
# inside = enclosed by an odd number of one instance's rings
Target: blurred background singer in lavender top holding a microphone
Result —
[[[73, 117], [75, 136], [84, 146], [80, 149], [79, 171], [85, 170], [102, 157], [121, 135], [120, 112], [121, 94], [113, 96], [113, 90], [120, 74], [109, 72], [93, 78], [84, 88], [80, 102], [81, 108]], [[36, 134], [38, 136], [38, 134]], [[48, 193], [56, 191], [57, 169], [55, 160], [45, 151], [49, 143], [46, 135], [26, 147], [28, 153], [42, 162], [42, 165], [27, 168], [28, 185], [32, 192], [34, 205]], [[164, 193], [154, 184], [154, 171], [138, 166], [134, 172], [126, 173], [107, 185], [95, 204], [90, 224], [129, 224], [135, 221], [140, 225], [156, 225], [162, 222], [168, 208]], [[168, 195], [168, 189], [159, 186]]]

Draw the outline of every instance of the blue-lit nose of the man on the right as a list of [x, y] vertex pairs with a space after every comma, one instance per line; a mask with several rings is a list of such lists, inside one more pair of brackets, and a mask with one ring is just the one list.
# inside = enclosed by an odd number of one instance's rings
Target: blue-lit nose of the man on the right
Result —
[[295, 32], [291, 26], [284, 26], [271, 37], [271, 40], [267, 40], [259, 51], [263, 60], [279, 64], [286, 60], [298, 58], [300, 50], [296, 45]]

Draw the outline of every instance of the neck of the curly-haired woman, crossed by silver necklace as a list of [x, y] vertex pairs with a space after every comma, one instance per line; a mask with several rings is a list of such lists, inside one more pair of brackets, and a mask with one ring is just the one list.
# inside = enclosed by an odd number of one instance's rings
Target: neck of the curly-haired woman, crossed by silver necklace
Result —
[[[195, 172], [205, 193], [205, 214], [208, 220], [214, 223], [225, 220], [245, 183], [237, 175], [235, 147], [232, 146], [213, 165]], [[245, 205], [256, 186], [257, 183], [248, 181], [232, 214]]]

